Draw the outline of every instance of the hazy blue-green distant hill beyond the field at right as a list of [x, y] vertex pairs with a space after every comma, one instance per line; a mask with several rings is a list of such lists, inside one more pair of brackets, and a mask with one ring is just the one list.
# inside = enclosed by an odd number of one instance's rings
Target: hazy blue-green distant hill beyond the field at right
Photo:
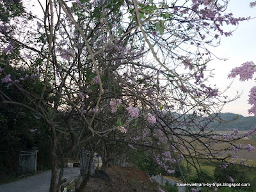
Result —
[[[212, 116], [215, 116], [212, 114]], [[212, 128], [214, 130], [250, 130], [252, 127], [256, 126], [256, 117], [255, 116], [243, 116], [234, 113], [219, 113], [216, 118], [222, 118], [225, 121], [232, 121], [230, 123], [221, 123], [217, 120], [213, 120], [208, 128]]]

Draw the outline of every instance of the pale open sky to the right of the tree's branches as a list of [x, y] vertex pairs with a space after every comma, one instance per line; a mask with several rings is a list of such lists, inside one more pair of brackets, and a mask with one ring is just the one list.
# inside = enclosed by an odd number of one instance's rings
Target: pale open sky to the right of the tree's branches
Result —
[[[256, 7], [250, 8], [249, 6], [252, 1], [231, 0], [227, 11], [234, 13], [236, 17], [256, 17]], [[227, 76], [232, 68], [239, 67], [246, 61], [253, 61], [256, 64], [255, 31], [256, 19], [241, 22], [232, 36], [224, 36], [221, 38], [221, 45], [211, 49], [220, 58], [228, 59], [227, 61], [214, 59], [209, 63], [207, 68], [215, 68], [215, 77], [211, 83], [216, 84], [220, 90], [224, 90], [234, 80], [230, 89], [225, 93], [230, 99], [236, 95], [237, 91], [240, 93], [243, 92], [240, 99], [227, 104], [223, 108], [223, 113], [230, 112], [249, 116], [248, 109], [251, 108], [251, 105], [248, 104], [248, 95], [250, 89], [256, 86], [256, 82], [254, 81], [256, 74], [252, 80], [245, 82], [239, 82], [238, 76], [236, 79], [228, 79]]]

